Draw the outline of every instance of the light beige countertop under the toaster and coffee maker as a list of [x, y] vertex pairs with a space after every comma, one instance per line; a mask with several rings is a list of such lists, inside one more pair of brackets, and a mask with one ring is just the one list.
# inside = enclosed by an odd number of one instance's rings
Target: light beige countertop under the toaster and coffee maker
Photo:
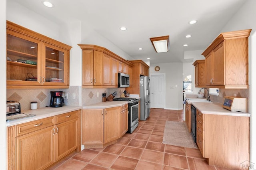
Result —
[[6, 122], [6, 126], [10, 127], [13, 125], [18, 125], [20, 123], [35, 121], [38, 119], [43, 119], [46, 117], [51, 117], [51, 116], [56, 116], [56, 115], [60, 115], [63, 113], [77, 111], [80, 109], [82, 109], [82, 107], [80, 107], [80, 106], [65, 106], [64, 105], [62, 107], [43, 107], [43, 108], [39, 108], [39, 109], [35, 109], [35, 110], [26, 110], [26, 111], [22, 111], [22, 113], [32, 114], [32, 115], [36, 115], [36, 116], [26, 117], [26, 118], [22, 118], [22, 119], [13, 120], [13, 121], [8, 121], [8, 122]]

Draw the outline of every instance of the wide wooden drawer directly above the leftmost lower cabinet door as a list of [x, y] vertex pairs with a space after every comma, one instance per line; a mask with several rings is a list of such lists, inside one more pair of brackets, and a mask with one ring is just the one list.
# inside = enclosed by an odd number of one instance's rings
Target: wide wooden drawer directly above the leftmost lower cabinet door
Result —
[[54, 117], [47, 117], [44, 119], [31, 121], [28, 123], [22, 123], [22, 124], [16, 125], [16, 136], [34, 132], [36, 130], [50, 127], [52, 125], [54, 125]]

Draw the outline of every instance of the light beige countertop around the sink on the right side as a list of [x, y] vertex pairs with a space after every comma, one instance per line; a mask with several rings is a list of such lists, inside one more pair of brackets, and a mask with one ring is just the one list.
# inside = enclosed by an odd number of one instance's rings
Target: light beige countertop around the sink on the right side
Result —
[[231, 112], [222, 107], [221, 103], [213, 102], [213, 103], [204, 103], [204, 102], [188, 102], [191, 103], [196, 109], [198, 109], [203, 114], [211, 114], [211, 115], [228, 115], [228, 116], [244, 116], [250, 117], [250, 113], [243, 112]]

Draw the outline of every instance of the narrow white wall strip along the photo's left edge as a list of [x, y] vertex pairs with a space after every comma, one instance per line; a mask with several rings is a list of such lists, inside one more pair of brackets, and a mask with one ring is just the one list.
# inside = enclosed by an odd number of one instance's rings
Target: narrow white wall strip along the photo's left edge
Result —
[[0, 5], [0, 166], [2, 170], [7, 168], [6, 165], [6, 0], [1, 1]]

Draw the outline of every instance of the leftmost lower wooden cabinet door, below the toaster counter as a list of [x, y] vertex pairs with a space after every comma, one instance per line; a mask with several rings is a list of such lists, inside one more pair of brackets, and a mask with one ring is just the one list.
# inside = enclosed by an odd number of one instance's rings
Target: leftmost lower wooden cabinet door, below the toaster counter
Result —
[[54, 163], [54, 126], [16, 138], [16, 169], [41, 170]]

